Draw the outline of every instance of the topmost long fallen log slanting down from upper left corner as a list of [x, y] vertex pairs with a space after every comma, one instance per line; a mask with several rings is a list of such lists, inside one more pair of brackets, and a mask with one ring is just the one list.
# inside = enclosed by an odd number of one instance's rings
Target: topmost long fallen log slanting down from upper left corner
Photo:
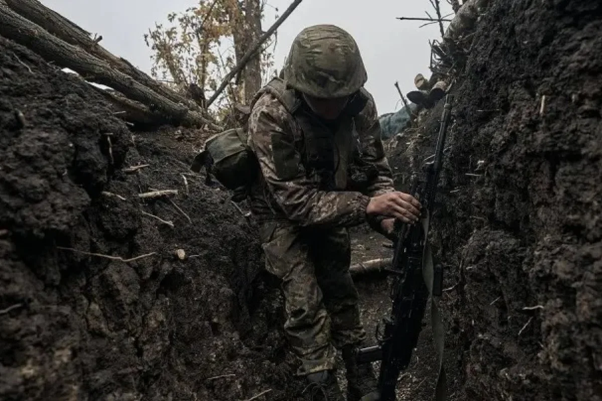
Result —
[[91, 54], [101, 60], [106, 61], [111, 67], [122, 72], [126, 75], [131, 76], [135, 81], [140, 84], [151, 88], [163, 97], [166, 97], [172, 102], [183, 103], [190, 109], [197, 109], [197, 111], [204, 113], [205, 111], [199, 108], [196, 103], [186, 99], [181, 94], [170, 90], [166, 85], [161, 84], [152, 79], [146, 73], [141, 72], [136, 67], [132, 66], [129, 61], [123, 58], [116, 57], [111, 52], [107, 51], [104, 47], [98, 44], [98, 41], [90, 38], [89, 32], [75, 25], [69, 19], [61, 16], [57, 12], [46, 7], [37, 0], [4, 0], [8, 7], [10, 7], [15, 13], [24, 17], [25, 19], [36, 23], [46, 31], [66, 41], [74, 46], [81, 47], [82, 50]]

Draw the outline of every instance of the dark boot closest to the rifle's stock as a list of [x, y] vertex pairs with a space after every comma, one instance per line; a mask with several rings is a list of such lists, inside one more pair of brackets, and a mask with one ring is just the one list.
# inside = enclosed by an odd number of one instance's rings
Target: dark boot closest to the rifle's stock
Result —
[[347, 378], [347, 401], [378, 401], [378, 381], [372, 364], [358, 364], [355, 359], [357, 347], [344, 346], [341, 349]]

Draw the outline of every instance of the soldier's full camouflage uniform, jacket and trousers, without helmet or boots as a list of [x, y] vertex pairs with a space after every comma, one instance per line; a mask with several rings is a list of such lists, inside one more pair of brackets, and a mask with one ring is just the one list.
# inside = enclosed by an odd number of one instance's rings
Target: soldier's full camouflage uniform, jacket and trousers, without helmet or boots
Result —
[[367, 221], [370, 197], [393, 191], [393, 179], [374, 101], [365, 90], [357, 96], [361, 109], [350, 104], [330, 124], [276, 79], [249, 118], [249, 147], [261, 166], [252, 211], [267, 270], [282, 279], [285, 332], [300, 374], [332, 369], [334, 347], [365, 337], [346, 227]]

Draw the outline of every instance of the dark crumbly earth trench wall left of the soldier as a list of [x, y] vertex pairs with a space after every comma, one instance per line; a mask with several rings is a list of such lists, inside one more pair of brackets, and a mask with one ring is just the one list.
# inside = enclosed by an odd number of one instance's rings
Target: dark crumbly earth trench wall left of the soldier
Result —
[[78, 77], [0, 49], [0, 398], [292, 399], [252, 227], [189, 174], [198, 133], [132, 135]]

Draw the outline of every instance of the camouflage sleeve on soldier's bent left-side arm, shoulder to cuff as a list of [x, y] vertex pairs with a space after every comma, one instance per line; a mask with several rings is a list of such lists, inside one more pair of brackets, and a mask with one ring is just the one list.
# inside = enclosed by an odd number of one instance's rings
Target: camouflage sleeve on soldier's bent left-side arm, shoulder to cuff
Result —
[[353, 226], [366, 219], [370, 198], [359, 192], [327, 192], [306, 177], [295, 142], [293, 120], [270, 95], [249, 118], [249, 145], [268, 189], [288, 219], [299, 225]]

